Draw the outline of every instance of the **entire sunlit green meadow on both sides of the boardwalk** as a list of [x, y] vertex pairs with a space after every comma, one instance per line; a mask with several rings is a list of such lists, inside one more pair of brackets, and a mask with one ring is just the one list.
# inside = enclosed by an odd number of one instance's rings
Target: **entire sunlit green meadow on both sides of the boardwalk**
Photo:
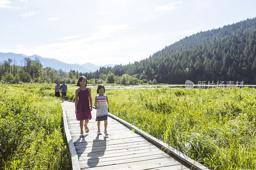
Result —
[[[4, 143], [1, 137], [0, 147], [2, 150], [8, 144], [8, 147], [12, 148], [8, 150], [12, 152], [3, 152], [9, 157], [4, 157], [6, 158], [4, 164], [3, 159], [1, 160], [2, 165], [10, 167], [9, 165], [14, 164], [13, 161], [18, 161], [21, 166], [28, 167], [32, 165], [31, 161], [28, 161], [30, 159], [35, 160], [33, 167], [36, 166], [35, 162], [40, 161], [45, 161], [45, 167], [49, 167], [52, 162], [56, 163], [54, 159], [59, 161], [56, 167], [60, 168], [68, 164], [67, 149], [60, 130], [60, 100], [53, 97], [54, 85], [27, 84], [1, 87], [1, 99], [3, 97], [8, 99], [7, 95], [11, 96], [9, 102], [13, 99], [12, 106], [5, 102], [4, 107], [1, 107], [0, 101], [1, 113], [3, 108], [7, 109], [1, 114], [0, 135], [4, 134], [6, 139]], [[76, 88], [68, 85], [67, 100], [75, 100]], [[95, 88], [95, 86], [92, 88], [93, 104], [97, 95]], [[26, 93], [22, 95], [22, 92]], [[165, 87], [111, 90], [106, 88], [105, 94], [108, 95], [110, 113], [170, 144], [212, 170], [256, 169], [256, 89], [254, 88], [191, 90]], [[21, 109], [20, 112], [12, 110], [14, 105], [23, 110]], [[31, 110], [26, 109], [27, 107]], [[21, 115], [27, 110], [32, 116]], [[32, 118], [33, 116], [35, 118]], [[21, 121], [21, 118], [30, 121]], [[23, 131], [14, 130], [13, 127], [24, 126], [22, 123], [26, 124]], [[8, 127], [9, 131], [6, 131]], [[18, 133], [23, 135], [22, 138], [18, 137]], [[53, 140], [54, 137], [59, 137], [61, 142], [57, 140], [59, 143], [53, 144], [56, 142]], [[18, 140], [20, 145], [13, 147], [10, 141], [14, 140]], [[51, 146], [50, 142], [53, 142]], [[42, 147], [38, 147], [38, 144]], [[48, 147], [52, 148], [48, 149]], [[43, 152], [47, 152], [49, 158], [44, 159], [39, 156]], [[51, 157], [51, 154], [55, 156]], [[49, 160], [48, 163], [46, 159]], [[6, 162], [7, 160], [9, 162]]]

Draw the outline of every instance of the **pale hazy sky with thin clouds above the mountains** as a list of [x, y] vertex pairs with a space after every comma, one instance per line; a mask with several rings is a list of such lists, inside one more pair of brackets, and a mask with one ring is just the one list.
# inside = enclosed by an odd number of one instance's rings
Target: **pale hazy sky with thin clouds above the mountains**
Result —
[[256, 17], [255, 0], [0, 0], [0, 52], [96, 65]]

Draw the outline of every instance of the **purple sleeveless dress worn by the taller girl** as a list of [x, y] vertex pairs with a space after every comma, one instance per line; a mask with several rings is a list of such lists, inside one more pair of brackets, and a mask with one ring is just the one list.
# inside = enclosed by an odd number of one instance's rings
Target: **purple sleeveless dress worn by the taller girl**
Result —
[[76, 120], [82, 121], [85, 119], [92, 119], [91, 108], [89, 105], [89, 90], [79, 89], [78, 102], [77, 102], [77, 114]]

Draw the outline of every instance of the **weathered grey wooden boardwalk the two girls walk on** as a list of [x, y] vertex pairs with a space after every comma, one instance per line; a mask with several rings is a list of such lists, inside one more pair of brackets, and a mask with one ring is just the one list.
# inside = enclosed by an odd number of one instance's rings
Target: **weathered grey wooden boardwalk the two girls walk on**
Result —
[[74, 143], [81, 169], [173, 169], [188, 170], [191, 165], [161, 151], [161, 147], [148, 138], [132, 132], [126, 125], [108, 117], [108, 136], [104, 122], [100, 124], [102, 135], [97, 135], [96, 109], [88, 123], [89, 133], [79, 137], [79, 121], [76, 121], [75, 103], [64, 101], [68, 129]]

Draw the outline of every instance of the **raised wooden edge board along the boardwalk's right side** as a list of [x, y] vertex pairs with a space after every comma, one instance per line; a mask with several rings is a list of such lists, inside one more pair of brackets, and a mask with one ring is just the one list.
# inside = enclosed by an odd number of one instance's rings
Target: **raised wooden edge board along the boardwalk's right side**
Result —
[[[75, 102], [75, 101], [71, 101], [71, 100], [65, 100], [65, 101]], [[95, 108], [94, 106], [92, 106], [92, 107]], [[115, 116], [115, 115], [113, 115], [109, 112], [108, 112], [108, 116], [112, 117], [113, 119], [117, 120], [118, 122], [121, 122], [121, 123], [125, 124], [130, 129], [134, 129], [140, 135], [148, 138], [150, 141], [154, 142], [155, 144], [158, 144], [160, 147], [162, 147], [164, 150], [166, 150], [167, 153], [171, 152], [173, 155], [175, 155], [178, 158], [180, 158], [181, 160], [187, 162], [189, 165], [193, 166], [194, 168], [196, 168], [198, 170], [210, 170], [209, 168], [200, 164], [199, 162], [195, 161], [194, 159], [191, 159], [186, 154], [178, 151], [177, 149], [171, 147], [170, 145], [168, 145], [168, 144], [158, 140], [157, 138], [149, 135], [148, 133], [146, 133], [143, 130], [137, 128], [136, 126], [132, 125], [131, 123], [128, 123], [128, 122], [124, 121], [123, 119], [120, 119], [119, 117], [117, 117], [117, 116]]]

